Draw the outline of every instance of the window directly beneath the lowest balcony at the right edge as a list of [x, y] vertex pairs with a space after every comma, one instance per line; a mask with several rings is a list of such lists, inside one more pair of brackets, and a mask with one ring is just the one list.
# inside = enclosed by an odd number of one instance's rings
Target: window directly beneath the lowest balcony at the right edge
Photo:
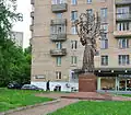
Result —
[[129, 48], [129, 39], [127, 38], [119, 38], [118, 39], [119, 48]]

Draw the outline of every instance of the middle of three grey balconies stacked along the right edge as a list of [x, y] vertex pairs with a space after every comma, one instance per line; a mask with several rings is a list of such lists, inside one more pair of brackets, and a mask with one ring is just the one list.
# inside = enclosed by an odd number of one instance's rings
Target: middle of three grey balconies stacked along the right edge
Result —
[[118, 13], [117, 14], [117, 21], [131, 21], [131, 14], [130, 13]]

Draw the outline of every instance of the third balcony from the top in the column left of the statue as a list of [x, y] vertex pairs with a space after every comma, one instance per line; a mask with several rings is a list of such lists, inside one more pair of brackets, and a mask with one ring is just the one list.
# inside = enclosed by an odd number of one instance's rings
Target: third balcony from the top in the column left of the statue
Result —
[[50, 39], [52, 42], [63, 42], [67, 41], [67, 34], [52, 34]]

